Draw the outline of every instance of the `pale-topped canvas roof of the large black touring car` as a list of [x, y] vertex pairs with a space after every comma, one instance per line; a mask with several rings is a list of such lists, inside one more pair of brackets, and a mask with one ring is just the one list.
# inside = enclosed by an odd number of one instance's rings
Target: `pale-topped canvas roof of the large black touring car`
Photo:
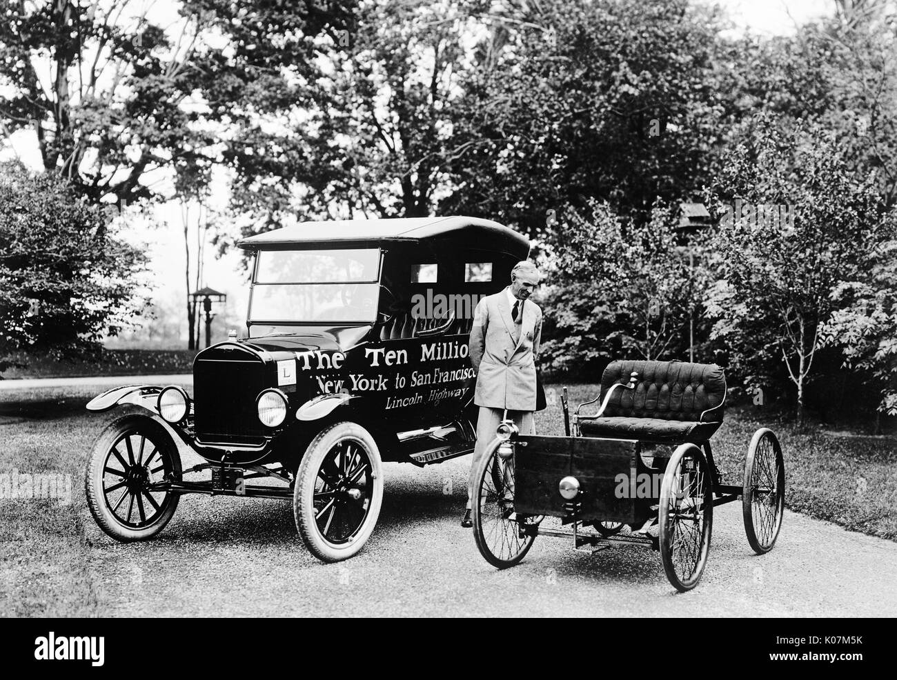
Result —
[[529, 241], [508, 227], [478, 217], [405, 217], [381, 220], [301, 222], [241, 239], [240, 248], [297, 245], [377, 245], [383, 241], [449, 240], [459, 246], [496, 249], [524, 259]]

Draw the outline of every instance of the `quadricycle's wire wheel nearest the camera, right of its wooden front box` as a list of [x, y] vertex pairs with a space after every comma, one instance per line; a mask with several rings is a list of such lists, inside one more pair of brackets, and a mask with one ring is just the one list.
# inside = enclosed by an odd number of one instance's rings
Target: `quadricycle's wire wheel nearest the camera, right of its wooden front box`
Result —
[[666, 578], [685, 592], [698, 585], [710, 550], [713, 483], [701, 449], [683, 444], [666, 465], [658, 527]]

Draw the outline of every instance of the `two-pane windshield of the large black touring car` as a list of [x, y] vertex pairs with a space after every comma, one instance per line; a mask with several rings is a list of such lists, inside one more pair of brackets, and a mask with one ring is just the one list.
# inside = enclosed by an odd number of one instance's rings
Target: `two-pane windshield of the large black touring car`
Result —
[[261, 250], [250, 321], [377, 319], [379, 248]]

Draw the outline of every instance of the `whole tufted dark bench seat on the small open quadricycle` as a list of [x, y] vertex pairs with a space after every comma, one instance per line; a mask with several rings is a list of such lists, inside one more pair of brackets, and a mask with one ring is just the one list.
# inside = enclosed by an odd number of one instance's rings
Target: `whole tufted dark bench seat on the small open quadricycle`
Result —
[[710, 440], [723, 421], [726, 377], [715, 363], [611, 362], [601, 376], [602, 403], [618, 382], [639, 377], [635, 389], [617, 390], [605, 413], [579, 423], [588, 437], [681, 443]]

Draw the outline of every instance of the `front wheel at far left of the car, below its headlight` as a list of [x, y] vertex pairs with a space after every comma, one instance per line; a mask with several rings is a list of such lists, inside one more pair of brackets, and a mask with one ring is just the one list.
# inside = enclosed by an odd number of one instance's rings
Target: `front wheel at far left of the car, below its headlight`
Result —
[[93, 519], [118, 541], [155, 536], [178, 507], [180, 494], [166, 484], [180, 473], [178, 448], [161, 424], [143, 415], [119, 418], [100, 434], [84, 477]]

